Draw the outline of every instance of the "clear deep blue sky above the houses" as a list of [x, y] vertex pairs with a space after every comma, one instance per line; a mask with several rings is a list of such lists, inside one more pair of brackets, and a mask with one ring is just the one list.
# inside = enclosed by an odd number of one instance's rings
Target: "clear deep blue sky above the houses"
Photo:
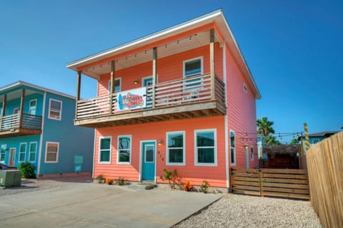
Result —
[[[0, 0], [0, 87], [27, 81], [71, 95], [66, 63], [222, 8], [277, 133], [343, 126], [343, 1]], [[83, 77], [81, 96], [95, 95]], [[283, 139], [284, 141], [285, 139]]]

